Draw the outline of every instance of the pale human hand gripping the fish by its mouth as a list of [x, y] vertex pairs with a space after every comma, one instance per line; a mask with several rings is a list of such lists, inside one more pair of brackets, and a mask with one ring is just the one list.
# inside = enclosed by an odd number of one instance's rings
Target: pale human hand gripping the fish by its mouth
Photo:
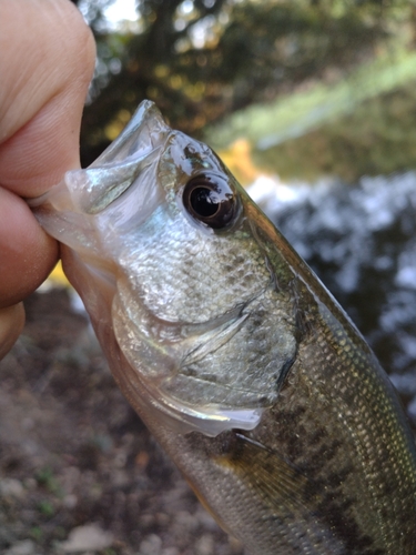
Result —
[[69, 0], [0, 0], [0, 359], [23, 327], [23, 299], [59, 256], [24, 199], [80, 167], [94, 60], [91, 31]]

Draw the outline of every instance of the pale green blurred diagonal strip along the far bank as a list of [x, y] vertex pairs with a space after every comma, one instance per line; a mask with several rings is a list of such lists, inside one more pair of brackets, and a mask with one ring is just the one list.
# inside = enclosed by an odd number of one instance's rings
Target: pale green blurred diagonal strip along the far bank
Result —
[[416, 52], [392, 49], [366, 61], [343, 79], [313, 81], [310, 87], [254, 104], [210, 127], [204, 140], [214, 149], [245, 138], [258, 150], [301, 137], [325, 122], [349, 114], [363, 101], [406, 85], [415, 79]]

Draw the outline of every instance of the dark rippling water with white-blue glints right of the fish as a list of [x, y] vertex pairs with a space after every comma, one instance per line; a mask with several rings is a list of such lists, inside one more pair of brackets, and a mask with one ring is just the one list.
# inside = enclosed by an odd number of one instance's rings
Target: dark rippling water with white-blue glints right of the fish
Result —
[[416, 426], [416, 173], [248, 192], [366, 336]]

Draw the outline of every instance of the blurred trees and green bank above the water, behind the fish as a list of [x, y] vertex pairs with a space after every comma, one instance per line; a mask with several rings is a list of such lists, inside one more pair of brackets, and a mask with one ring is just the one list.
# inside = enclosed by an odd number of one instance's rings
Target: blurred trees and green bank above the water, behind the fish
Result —
[[174, 129], [240, 148], [229, 163], [244, 183], [255, 170], [239, 170], [242, 151], [262, 170], [308, 182], [415, 167], [413, 1], [75, 3], [98, 43], [84, 164], [148, 98]]

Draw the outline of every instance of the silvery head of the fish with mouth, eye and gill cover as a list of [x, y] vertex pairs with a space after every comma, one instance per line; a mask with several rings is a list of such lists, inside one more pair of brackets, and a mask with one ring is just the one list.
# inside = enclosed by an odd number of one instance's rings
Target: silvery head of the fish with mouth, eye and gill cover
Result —
[[114, 340], [129, 364], [133, 404], [181, 433], [258, 424], [296, 355], [294, 275], [209, 147], [145, 101], [34, 210], [104, 350]]

